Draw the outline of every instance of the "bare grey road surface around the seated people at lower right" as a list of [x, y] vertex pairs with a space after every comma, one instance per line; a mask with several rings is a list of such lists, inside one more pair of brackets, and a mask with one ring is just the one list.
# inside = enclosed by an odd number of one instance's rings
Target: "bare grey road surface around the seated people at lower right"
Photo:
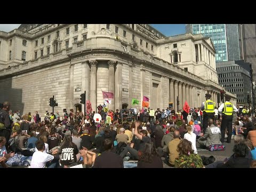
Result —
[[[233, 154], [234, 139], [231, 139], [230, 143], [224, 142], [223, 145], [225, 145], [226, 147], [225, 150], [223, 151], [210, 151], [210, 150], [201, 149], [198, 147], [197, 153], [198, 155], [205, 156], [205, 157], [210, 157], [212, 155], [213, 157], [215, 157], [215, 161], [224, 161], [225, 158], [228, 158]], [[163, 160], [164, 168], [172, 168], [166, 164], [166, 161], [164, 158], [162, 158], [162, 160]]]

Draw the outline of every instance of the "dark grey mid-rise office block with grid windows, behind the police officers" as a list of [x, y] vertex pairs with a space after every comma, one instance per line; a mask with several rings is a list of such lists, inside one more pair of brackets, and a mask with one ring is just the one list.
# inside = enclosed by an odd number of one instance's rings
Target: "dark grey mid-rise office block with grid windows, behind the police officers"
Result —
[[225, 91], [236, 94], [237, 106], [248, 106], [247, 95], [252, 98], [249, 65], [243, 60], [216, 63], [219, 84]]

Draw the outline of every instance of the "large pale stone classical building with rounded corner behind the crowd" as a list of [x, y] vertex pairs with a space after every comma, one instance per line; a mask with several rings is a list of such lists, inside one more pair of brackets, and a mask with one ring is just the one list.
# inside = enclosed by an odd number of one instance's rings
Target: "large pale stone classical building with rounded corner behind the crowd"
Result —
[[[165, 37], [147, 24], [31, 24], [0, 31], [0, 103], [8, 100], [23, 113], [96, 110], [102, 91], [113, 92], [109, 109], [141, 109], [143, 96], [153, 109], [177, 110], [185, 101], [199, 107], [205, 93], [217, 102], [221, 91], [215, 50], [201, 34]], [[236, 102], [236, 96], [227, 93]], [[132, 105], [138, 99], [138, 105]]]

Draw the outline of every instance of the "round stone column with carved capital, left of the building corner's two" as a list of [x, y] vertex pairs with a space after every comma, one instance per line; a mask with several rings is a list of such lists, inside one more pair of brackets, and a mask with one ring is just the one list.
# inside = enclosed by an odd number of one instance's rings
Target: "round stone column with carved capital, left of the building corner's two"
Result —
[[92, 111], [97, 111], [97, 60], [89, 61], [91, 65], [91, 85], [90, 85], [90, 101], [92, 103]]

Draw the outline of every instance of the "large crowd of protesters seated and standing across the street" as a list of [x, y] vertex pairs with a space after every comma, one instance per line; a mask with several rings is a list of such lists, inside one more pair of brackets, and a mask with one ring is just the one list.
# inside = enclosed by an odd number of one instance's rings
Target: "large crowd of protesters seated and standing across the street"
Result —
[[[205, 165], [197, 148], [223, 145], [219, 116], [209, 118], [203, 133], [202, 110], [194, 108], [175, 112], [158, 108], [155, 117], [149, 110], [139, 111], [139, 121], [123, 121], [116, 110], [103, 111], [95, 123], [95, 111], [86, 116], [81, 111], [60, 115], [37, 111], [21, 115], [10, 111], [4, 102], [0, 112], [1, 167], [30, 166], [37, 168], [125, 167], [135, 161], [141, 168], [162, 168], [163, 159], [171, 167], [253, 167], [256, 159], [256, 119], [239, 114], [233, 126], [234, 154], [225, 161]], [[106, 116], [111, 123], [106, 123]], [[213, 131], [217, 130], [217, 132]], [[253, 161], [254, 160], [254, 161]]]

